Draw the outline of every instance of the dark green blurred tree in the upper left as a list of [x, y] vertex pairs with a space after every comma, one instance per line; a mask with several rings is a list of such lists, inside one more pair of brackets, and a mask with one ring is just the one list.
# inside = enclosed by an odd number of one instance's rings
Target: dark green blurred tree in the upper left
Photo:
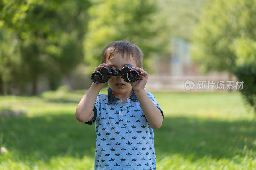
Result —
[[83, 59], [82, 40], [89, 1], [2, 0], [0, 3], [0, 26], [12, 28], [18, 37], [22, 66], [29, 72], [33, 94], [37, 92], [40, 75], [46, 75], [51, 88], [56, 89], [61, 76], [68, 75]]

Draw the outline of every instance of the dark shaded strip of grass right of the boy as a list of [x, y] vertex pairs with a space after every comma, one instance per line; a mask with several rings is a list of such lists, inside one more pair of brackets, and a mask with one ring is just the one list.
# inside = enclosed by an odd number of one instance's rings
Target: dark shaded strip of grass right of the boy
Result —
[[256, 139], [255, 121], [165, 118], [162, 127], [154, 130], [154, 134], [156, 155], [179, 153], [191, 162], [204, 156], [217, 160], [231, 159], [238, 154], [242, 156], [245, 145], [256, 155], [253, 144]]

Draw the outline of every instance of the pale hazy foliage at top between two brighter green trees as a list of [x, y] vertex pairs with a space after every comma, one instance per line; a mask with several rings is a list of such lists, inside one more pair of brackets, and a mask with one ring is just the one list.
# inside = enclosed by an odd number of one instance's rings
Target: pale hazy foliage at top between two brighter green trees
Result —
[[158, 18], [164, 18], [161, 22], [168, 27], [166, 34], [191, 41], [191, 34], [198, 24], [202, 6], [207, 1], [209, 0], [159, 1], [161, 11]]

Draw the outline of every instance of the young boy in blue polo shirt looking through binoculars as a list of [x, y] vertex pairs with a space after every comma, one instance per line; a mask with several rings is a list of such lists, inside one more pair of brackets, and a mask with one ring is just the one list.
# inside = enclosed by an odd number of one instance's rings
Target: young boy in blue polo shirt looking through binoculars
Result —
[[140, 73], [139, 80], [126, 82], [122, 76], [112, 76], [106, 82], [108, 95], [99, 94], [105, 83], [92, 83], [77, 106], [79, 122], [96, 122], [95, 169], [156, 169], [153, 129], [161, 127], [164, 115], [155, 97], [144, 90], [148, 73], [142, 58], [136, 45], [111, 42], [94, 72], [109, 65], [121, 70], [130, 64]]

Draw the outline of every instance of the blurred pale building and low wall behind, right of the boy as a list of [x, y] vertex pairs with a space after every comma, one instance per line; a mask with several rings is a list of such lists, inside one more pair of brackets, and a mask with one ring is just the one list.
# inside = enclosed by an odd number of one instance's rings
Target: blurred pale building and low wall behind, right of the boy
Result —
[[145, 88], [184, 91], [186, 80], [191, 80], [195, 84], [197, 81], [236, 81], [236, 77], [227, 72], [201, 74], [191, 58], [190, 48], [190, 42], [171, 36], [170, 53], [164, 57], [156, 57], [157, 73], [149, 75]]

